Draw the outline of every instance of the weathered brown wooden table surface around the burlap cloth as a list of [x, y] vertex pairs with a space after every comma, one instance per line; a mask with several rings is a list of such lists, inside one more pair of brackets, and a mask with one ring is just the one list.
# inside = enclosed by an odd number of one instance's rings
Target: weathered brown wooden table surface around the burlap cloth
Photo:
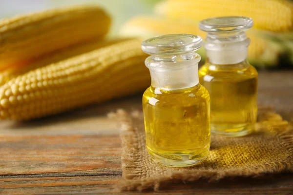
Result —
[[[260, 72], [259, 103], [293, 121], [293, 71]], [[141, 94], [28, 122], [0, 121], [0, 194], [119, 193], [119, 129], [106, 114], [141, 107]], [[172, 195], [293, 195], [293, 174], [172, 184]]]

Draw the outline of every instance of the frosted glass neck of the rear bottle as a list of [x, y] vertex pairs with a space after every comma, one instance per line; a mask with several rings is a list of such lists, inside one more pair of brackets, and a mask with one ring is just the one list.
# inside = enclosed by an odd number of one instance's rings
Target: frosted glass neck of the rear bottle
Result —
[[249, 44], [250, 39], [246, 37], [244, 32], [209, 33], [204, 47], [210, 63], [227, 65], [246, 60]]

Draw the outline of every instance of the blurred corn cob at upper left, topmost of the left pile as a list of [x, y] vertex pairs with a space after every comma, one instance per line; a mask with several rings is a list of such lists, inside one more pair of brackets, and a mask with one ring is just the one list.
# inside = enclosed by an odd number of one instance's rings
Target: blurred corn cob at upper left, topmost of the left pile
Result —
[[75, 6], [0, 20], [0, 71], [24, 66], [55, 50], [101, 39], [110, 18], [97, 6]]

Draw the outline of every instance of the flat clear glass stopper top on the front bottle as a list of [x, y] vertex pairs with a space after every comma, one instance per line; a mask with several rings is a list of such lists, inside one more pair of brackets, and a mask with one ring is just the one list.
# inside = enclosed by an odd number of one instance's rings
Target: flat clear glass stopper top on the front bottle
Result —
[[144, 40], [142, 50], [149, 55], [178, 55], [198, 50], [202, 41], [196, 35], [162, 35]]

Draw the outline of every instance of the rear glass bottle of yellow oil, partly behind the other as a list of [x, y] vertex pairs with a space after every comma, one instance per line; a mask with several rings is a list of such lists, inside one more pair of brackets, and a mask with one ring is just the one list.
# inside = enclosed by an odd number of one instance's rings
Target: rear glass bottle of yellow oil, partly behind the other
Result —
[[230, 137], [252, 132], [257, 117], [257, 71], [247, 61], [250, 39], [247, 17], [220, 17], [200, 21], [207, 32], [207, 61], [199, 80], [210, 95], [211, 132]]

